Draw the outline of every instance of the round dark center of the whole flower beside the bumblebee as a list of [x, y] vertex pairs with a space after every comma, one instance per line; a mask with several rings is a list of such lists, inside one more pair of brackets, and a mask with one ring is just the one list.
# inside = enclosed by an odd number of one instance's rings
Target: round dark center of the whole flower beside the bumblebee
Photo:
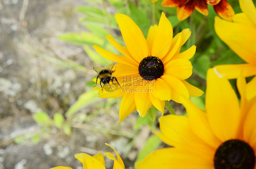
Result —
[[144, 80], [160, 78], [164, 74], [164, 64], [158, 57], [148, 56], [141, 60], [138, 73]]

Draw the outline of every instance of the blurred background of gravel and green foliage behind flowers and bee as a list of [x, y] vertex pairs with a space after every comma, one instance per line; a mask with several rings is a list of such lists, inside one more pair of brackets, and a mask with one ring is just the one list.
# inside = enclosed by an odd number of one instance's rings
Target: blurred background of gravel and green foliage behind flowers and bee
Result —
[[[238, 1], [230, 3], [241, 12]], [[188, 81], [204, 91], [208, 68], [243, 61], [215, 34], [212, 7], [208, 16], [194, 11], [190, 19], [179, 22], [176, 8], [160, 4], [161, 0], [0, 0], [0, 169], [82, 169], [74, 154], [113, 152], [104, 143], [132, 169], [146, 154], [166, 146], [151, 132], [158, 129], [155, 119], [160, 112], [145, 118], [133, 112], [118, 124], [121, 98], [98, 98], [92, 89], [97, 76], [92, 67], [111, 63], [92, 45], [120, 54], [106, 40], [109, 34], [123, 44], [114, 14], [130, 16], [145, 36], [162, 11], [174, 35], [192, 30], [182, 48], [197, 45]], [[204, 108], [204, 99], [205, 95], [193, 101]], [[184, 113], [182, 105], [170, 104], [177, 114]], [[112, 166], [106, 159], [106, 168]]]

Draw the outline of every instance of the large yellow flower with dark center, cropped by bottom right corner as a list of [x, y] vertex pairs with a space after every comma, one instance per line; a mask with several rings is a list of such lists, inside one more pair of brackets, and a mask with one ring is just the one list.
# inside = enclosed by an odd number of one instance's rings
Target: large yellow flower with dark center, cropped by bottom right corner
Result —
[[256, 94], [245, 97], [245, 90], [255, 87], [240, 76], [240, 105], [229, 81], [215, 70], [208, 70], [206, 83], [206, 110], [184, 98], [188, 117], [159, 118], [161, 132], [155, 133], [174, 147], [154, 151], [137, 169], [256, 169]]

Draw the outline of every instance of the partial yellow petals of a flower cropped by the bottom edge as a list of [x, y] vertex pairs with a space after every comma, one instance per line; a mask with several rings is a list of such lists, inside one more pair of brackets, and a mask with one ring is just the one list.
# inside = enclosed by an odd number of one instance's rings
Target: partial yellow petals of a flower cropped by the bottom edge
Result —
[[[114, 157], [114, 155], [111, 154], [111, 153], [107, 152], [107, 153], [104, 154], [109, 159], [113, 159], [114, 160], [113, 169], [125, 169], [124, 168], [124, 164], [123, 164], [123, 160], [118, 155], [117, 151], [111, 145], [109, 145], [107, 143], [105, 143], [105, 144], [110, 146], [116, 152], [116, 154], [117, 154], [117, 158], [118, 159], [116, 159]], [[90, 156], [90, 155], [85, 154], [85, 153], [80, 153], [80, 154], [75, 154], [75, 158], [82, 162], [83, 169], [106, 169], [105, 168], [105, 160], [104, 160], [104, 157], [103, 157], [102, 153], [98, 153], [98, 154], [96, 154], [94, 156]], [[72, 169], [72, 168], [58, 166], [58, 167], [54, 167], [52, 169]]]

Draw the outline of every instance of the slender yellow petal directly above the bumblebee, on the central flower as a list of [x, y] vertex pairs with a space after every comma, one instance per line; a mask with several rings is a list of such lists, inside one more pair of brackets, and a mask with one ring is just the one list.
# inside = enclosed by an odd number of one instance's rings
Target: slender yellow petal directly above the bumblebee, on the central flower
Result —
[[136, 67], [135, 65], [137, 63], [135, 61], [131, 60], [130, 58], [128, 58], [127, 56], [115, 55], [115, 54], [109, 52], [108, 50], [102, 49], [101, 47], [99, 47], [97, 45], [93, 45], [93, 47], [100, 55], [102, 55], [104, 58], [106, 58], [108, 60], [112, 60], [114, 62], [123, 63], [125, 65]]

